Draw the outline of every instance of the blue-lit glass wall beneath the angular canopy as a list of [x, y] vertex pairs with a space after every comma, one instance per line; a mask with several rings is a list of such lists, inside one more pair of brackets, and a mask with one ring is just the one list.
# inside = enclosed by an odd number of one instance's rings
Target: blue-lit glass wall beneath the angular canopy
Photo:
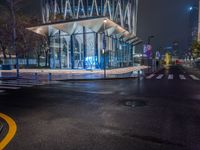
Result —
[[107, 69], [133, 66], [133, 47], [79, 26], [73, 34], [49, 27], [50, 68]]

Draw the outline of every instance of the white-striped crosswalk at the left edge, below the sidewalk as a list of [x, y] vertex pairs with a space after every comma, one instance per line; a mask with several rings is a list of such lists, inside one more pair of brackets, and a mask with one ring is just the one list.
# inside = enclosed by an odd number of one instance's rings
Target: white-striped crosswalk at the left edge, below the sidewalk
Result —
[[39, 83], [36, 81], [30, 80], [7, 80], [7, 81], [0, 81], [0, 94], [7, 92], [8, 90], [19, 90], [21, 88], [31, 88], [34, 86], [42, 86], [49, 84], [46, 83]]

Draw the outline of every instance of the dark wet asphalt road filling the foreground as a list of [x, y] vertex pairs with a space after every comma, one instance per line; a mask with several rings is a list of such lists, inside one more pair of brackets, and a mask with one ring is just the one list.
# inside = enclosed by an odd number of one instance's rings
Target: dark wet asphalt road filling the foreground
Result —
[[160, 74], [8, 91], [0, 112], [18, 130], [6, 149], [200, 150], [200, 81], [179, 66]]

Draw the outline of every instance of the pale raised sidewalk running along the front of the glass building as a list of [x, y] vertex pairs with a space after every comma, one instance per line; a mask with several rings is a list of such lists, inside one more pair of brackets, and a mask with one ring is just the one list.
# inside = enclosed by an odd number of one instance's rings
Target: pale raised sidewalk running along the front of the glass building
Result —
[[[106, 70], [106, 78], [135, 77], [138, 71], [147, 69], [147, 66], [135, 66]], [[16, 70], [0, 71], [1, 79], [16, 76]], [[104, 70], [52, 70], [52, 69], [20, 69], [20, 78], [28, 80], [83, 80], [104, 79]]]

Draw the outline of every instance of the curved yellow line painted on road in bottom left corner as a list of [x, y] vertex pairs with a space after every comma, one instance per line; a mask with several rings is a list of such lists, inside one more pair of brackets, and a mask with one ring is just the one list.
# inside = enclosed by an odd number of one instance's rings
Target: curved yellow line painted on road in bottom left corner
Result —
[[15, 133], [17, 131], [17, 125], [12, 118], [10, 118], [9, 116], [5, 114], [0, 113], [0, 118], [4, 119], [7, 122], [8, 127], [9, 127], [7, 135], [2, 141], [0, 141], [0, 150], [3, 150], [6, 147], [6, 145], [8, 145], [8, 143], [12, 140], [12, 138], [15, 136]]

